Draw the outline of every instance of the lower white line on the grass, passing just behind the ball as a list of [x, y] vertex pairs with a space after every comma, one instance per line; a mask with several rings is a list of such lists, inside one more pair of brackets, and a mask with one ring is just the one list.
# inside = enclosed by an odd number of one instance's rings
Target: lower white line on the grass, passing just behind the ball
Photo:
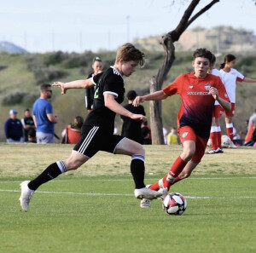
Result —
[[[0, 192], [5, 193], [20, 193], [19, 190], [3, 190], [0, 189]], [[86, 196], [122, 196], [122, 197], [131, 197], [133, 194], [125, 194], [125, 193], [63, 193], [63, 192], [45, 192], [45, 191], [37, 191], [37, 193], [46, 193], [46, 194], [64, 194], [64, 195], [86, 195]], [[184, 196], [185, 198], [191, 199], [224, 199], [224, 198], [256, 198], [256, 196], [228, 196], [228, 197], [209, 197], [209, 196]]]

